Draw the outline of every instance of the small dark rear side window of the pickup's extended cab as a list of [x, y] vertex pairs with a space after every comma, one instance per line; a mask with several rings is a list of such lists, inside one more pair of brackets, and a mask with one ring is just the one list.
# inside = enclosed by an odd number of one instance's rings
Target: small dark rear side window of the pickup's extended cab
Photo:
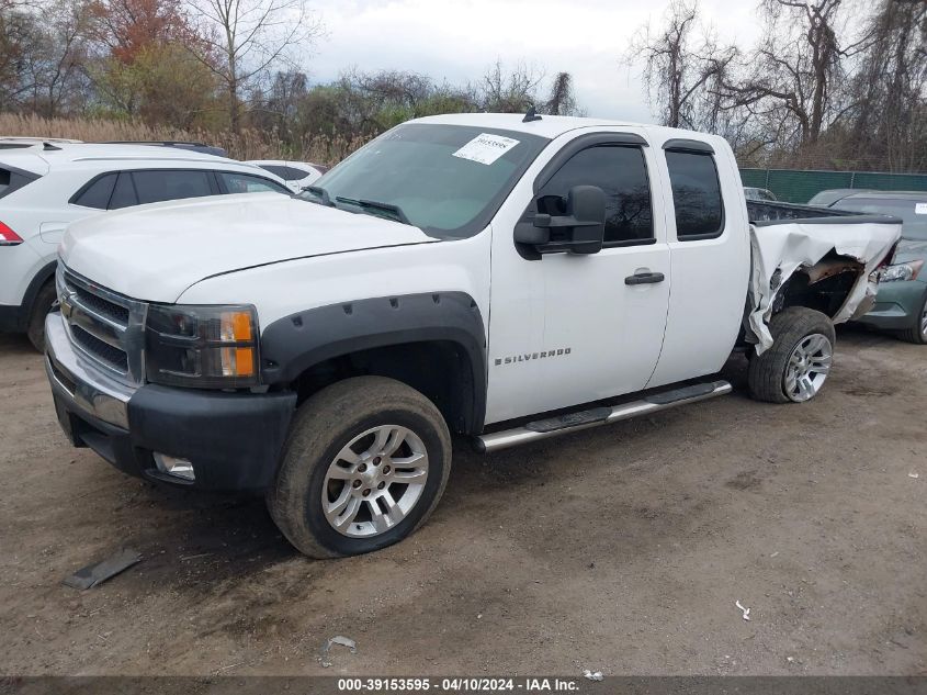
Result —
[[709, 145], [697, 142], [691, 143], [691, 148], [675, 147], [670, 143], [664, 149], [672, 188], [676, 238], [696, 242], [721, 236], [724, 201], [714, 152]]

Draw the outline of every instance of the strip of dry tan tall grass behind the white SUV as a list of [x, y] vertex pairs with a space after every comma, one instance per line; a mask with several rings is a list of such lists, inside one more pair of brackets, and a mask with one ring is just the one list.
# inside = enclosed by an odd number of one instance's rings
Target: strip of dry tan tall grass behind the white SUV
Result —
[[291, 159], [331, 166], [370, 138], [306, 137], [295, 146], [287, 146], [276, 133], [245, 130], [239, 135], [229, 132], [181, 131], [151, 127], [138, 121], [105, 121], [102, 119], [43, 119], [36, 115], [0, 113], [0, 136], [68, 137], [84, 142], [108, 141], [194, 141], [224, 147], [236, 159]]

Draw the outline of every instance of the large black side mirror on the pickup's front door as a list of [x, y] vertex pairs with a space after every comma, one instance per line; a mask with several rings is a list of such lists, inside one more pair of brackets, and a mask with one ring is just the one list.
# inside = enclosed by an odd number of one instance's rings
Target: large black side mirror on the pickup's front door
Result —
[[[552, 231], [562, 231], [562, 233]], [[574, 186], [566, 197], [566, 214], [534, 215], [533, 223], [519, 223], [515, 240], [541, 254], [569, 251], [598, 254], [606, 233], [606, 194], [598, 186]]]

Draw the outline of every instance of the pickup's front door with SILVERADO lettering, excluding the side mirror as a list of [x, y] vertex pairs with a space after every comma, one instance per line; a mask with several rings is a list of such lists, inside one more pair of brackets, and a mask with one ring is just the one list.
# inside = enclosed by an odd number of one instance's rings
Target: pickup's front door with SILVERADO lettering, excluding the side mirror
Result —
[[[649, 380], [670, 285], [649, 149], [633, 134], [576, 137], [530, 189], [513, 192], [511, 202], [522, 197], [520, 216], [494, 222], [487, 422], [638, 391]], [[569, 189], [580, 184], [606, 192], [601, 251], [539, 256], [515, 247], [515, 223], [564, 214]]]

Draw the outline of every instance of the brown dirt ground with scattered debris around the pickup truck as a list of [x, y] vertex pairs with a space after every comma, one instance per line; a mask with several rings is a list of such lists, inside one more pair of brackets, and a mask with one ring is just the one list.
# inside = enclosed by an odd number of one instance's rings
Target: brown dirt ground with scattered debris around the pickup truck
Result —
[[[2, 337], [0, 674], [927, 674], [927, 348], [843, 330], [836, 365], [805, 405], [747, 400], [734, 359], [732, 396], [459, 442], [418, 534], [319, 562], [259, 500], [70, 448]], [[143, 562], [61, 585], [122, 546]]]

